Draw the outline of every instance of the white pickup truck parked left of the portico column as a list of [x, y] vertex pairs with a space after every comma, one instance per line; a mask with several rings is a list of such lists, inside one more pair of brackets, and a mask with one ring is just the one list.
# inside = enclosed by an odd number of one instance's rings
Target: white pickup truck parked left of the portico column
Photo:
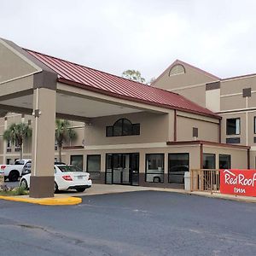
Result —
[[[4, 180], [9, 179], [15, 182], [21, 176], [22, 169], [30, 159], [15, 160], [14, 165], [0, 165], [0, 170], [4, 172]], [[1, 172], [0, 171], [0, 172]]]

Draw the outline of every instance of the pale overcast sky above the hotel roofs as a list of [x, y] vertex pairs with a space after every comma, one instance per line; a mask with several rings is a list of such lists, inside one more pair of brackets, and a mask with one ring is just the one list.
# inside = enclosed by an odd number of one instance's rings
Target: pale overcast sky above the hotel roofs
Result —
[[255, 14], [254, 0], [0, 0], [0, 38], [147, 81], [176, 59], [228, 78], [256, 73]]

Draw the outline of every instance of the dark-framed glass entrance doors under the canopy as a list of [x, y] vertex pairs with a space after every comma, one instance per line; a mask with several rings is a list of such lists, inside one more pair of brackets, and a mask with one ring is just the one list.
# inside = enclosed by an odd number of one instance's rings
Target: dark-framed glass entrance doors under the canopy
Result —
[[139, 154], [107, 154], [106, 183], [138, 185]]

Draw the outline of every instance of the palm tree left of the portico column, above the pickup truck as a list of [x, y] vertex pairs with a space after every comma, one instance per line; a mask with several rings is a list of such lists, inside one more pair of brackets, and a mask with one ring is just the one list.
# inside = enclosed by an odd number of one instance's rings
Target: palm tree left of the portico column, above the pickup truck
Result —
[[22, 145], [29, 137], [32, 137], [32, 129], [25, 123], [9, 125], [9, 128], [3, 132], [4, 140], [17, 144], [20, 148], [20, 159], [23, 158]]

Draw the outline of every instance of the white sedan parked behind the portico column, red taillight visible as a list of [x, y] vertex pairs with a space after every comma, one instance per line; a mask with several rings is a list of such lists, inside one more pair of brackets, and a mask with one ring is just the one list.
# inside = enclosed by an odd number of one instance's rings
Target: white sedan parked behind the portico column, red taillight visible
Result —
[[[20, 178], [20, 187], [30, 188], [31, 173]], [[84, 192], [91, 187], [90, 173], [83, 172], [76, 166], [55, 165], [55, 192], [58, 190], [76, 189]]]

